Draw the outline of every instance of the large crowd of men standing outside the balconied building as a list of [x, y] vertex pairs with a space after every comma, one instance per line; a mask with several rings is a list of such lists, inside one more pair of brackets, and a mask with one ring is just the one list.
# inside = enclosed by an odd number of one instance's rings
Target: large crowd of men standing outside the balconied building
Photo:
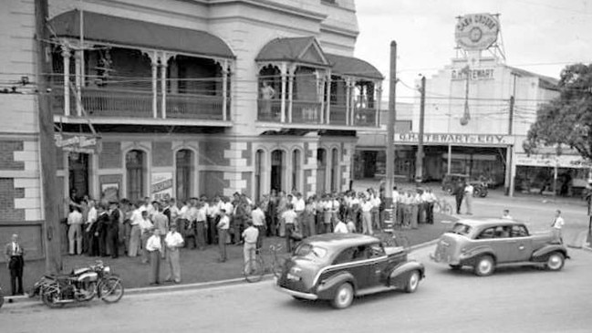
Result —
[[[132, 203], [127, 199], [97, 204], [88, 198], [70, 200], [68, 214], [68, 251], [70, 255], [87, 254], [113, 258], [119, 254], [141, 255], [149, 262], [148, 239], [156, 230], [161, 238], [161, 258], [166, 256], [166, 235], [175, 225], [183, 246], [203, 250], [207, 245], [220, 246], [220, 260], [225, 261], [225, 245], [244, 242], [247, 222], [259, 233], [256, 247], [264, 236], [286, 237], [290, 251], [299, 239], [336, 231], [374, 234], [385, 217], [383, 193], [369, 188], [363, 192], [326, 193], [305, 199], [302, 193], [272, 191], [254, 203], [244, 193], [233, 197], [205, 195], [182, 203], [175, 199], [153, 201], [146, 197]], [[392, 192], [392, 220], [403, 228], [433, 224], [433, 205], [437, 201], [430, 189]], [[339, 222], [345, 224], [338, 227]]]

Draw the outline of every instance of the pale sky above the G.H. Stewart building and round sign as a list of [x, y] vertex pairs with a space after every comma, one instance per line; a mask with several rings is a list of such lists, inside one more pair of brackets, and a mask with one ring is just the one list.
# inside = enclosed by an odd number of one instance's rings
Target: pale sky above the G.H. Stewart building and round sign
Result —
[[[357, 0], [356, 57], [385, 76], [397, 42], [397, 100], [413, 102], [420, 75], [455, 57], [456, 16], [499, 14], [506, 64], [559, 78], [566, 65], [592, 63], [592, 0]], [[498, 38], [498, 41], [500, 39]]]

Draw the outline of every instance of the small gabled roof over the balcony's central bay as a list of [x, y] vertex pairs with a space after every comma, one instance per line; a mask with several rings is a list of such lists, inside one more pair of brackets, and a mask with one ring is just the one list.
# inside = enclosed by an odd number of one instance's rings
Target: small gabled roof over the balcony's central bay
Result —
[[287, 61], [330, 67], [325, 53], [313, 36], [275, 38], [265, 44], [255, 61]]

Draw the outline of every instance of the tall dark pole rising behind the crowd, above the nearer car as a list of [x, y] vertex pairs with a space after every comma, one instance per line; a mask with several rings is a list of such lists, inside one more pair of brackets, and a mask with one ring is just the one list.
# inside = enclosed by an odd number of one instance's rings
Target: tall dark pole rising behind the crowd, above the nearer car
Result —
[[384, 189], [385, 206], [390, 208], [392, 204], [392, 187], [395, 180], [395, 119], [397, 111], [395, 109], [395, 96], [397, 88], [397, 42], [390, 42], [390, 72], [389, 72], [389, 113], [387, 119], [387, 179]]

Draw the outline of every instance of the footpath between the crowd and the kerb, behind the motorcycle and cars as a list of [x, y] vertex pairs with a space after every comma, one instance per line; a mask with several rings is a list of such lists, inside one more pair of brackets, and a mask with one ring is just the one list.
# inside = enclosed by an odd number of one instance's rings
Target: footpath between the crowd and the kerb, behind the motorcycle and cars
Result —
[[[420, 224], [418, 229], [401, 230], [409, 239], [411, 249], [417, 246], [430, 244], [451, 226], [455, 217], [435, 213], [434, 224]], [[266, 265], [271, 265], [271, 253], [269, 245], [286, 246], [286, 240], [280, 237], [267, 237], [264, 239], [263, 255]], [[149, 286], [150, 265], [142, 264], [141, 257], [119, 256], [91, 257], [87, 255], [64, 255], [64, 273], [70, 272], [75, 267], [83, 267], [92, 264], [95, 260], [102, 260], [105, 265], [111, 267], [111, 272], [121, 277], [126, 293], [156, 292], [177, 290], [182, 288], [199, 288], [204, 286], [219, 286], [244, 281], [243, 278], [243, 246], [227, 245], [228, 260], [218, 262], [219, 253], [217, 245], [208, 245], [204, 250], [183, 248], [181, 251], [181, 284], [165, 284], [164, 279], [168, 272], [168, 262], [161, 261], [161, 285]], [[286, 251], [280, 255], [287, 255]], [[25, 291], [28, 292], [40, 276], [45, 273], [45, 261], [26, 261], [24, 272]], [[5, 295], [10, 293], [10, 275], [5, 265], [0, 266], [0, 286], [3, 286]], [[16, 302], [25, 301], [27, 298], [15, 297]], [[6, 306], [6, 305], [5, 305]]]

